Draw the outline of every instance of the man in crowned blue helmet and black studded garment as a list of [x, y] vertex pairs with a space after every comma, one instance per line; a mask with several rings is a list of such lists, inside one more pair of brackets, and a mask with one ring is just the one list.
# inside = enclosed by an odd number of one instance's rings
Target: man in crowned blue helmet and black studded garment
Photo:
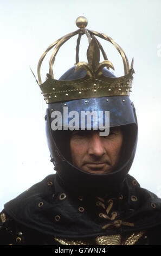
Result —
[[[124, 51], [110, 37], [85, 29], [85, 17], [76, 24], [80, 29], [51, 44], [38, 63], [38, 83], [48, 103], [48, 147], [57, 172], [4, 205], [0, 243], [160, 245], [161, 200], [128, 175], [138, 135], [129, 99], [133, 62], [130, 68]], [[56, 53], [75, 34], [76, 66], [54, 80]], [[88, 63], [79, 62], [83, 34], [89, 41]], [[95, 36], [117, 48], [124, 76], [117, 78], [108, 70], [113, 65]], [[54, 46], [42, 84], [41, 63]], [[101, 63], [100, 51], [105, 59]]]

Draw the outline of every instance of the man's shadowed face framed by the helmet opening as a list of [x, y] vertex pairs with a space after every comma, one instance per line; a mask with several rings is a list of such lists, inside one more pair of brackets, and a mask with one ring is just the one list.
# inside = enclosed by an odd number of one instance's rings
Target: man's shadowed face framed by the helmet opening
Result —
[[110, 173], [120, 158], [123, 133], [110, 129], [108, 136], [99, 131], [73, 131], [70, 138], [70, 154], [74, 166], [88, 173]]

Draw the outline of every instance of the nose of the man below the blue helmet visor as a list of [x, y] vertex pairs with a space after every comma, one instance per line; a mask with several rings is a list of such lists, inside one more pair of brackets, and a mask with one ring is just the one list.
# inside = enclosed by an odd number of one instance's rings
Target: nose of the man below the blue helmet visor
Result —
[[101, 157], [106, 153], [104, 144], [99, 136], [99, 132], [93, 132], [89, 143], [88, 153], [89, 155], [96, 157]]

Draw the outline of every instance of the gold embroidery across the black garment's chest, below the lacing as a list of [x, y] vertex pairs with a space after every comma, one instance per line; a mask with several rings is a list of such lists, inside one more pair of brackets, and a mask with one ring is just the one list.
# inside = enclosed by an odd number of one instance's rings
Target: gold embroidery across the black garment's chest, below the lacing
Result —
[[54, 238], [55, 241], [59, 242], [61, 245], [134, 245], [145, 232], [140, 231], [139, 233], [133, 233], [132, 235], [126, 237], [121, 237], [121, 235], [107, 235], [107, 236], [97, 236], [95, 243], [88, 243], [85, 241], [72, 241], [67, 239]]

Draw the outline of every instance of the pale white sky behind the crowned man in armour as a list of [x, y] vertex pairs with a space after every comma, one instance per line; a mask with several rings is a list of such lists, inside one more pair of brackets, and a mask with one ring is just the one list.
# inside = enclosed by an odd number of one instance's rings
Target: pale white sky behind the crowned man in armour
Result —
[[[134, 57], [131, 100], [137, 111], [139, 139], [130, 174], [161, 197], [161, 1], [1, 0], [0, 4], [0, 210], [53, 173], [44, 130], [46, 103], [29, 66], [37, 76], [41, 54], [52, 42], [78, 29], [75, 20], [81, 15], [87, 17], [88, 29], [111, 36], [130, 63]], [[56, 79], [74, 65], [76, 39], [70, 39], [57, 54]], [[114, 74], [124, 75], [117, 50], [110, 42], [101, 43], [115, 67]], [[87, 46], [84, 35], [80, 61], [86, 61]], [[49, 57], [42, 65], [43, 81]]]

